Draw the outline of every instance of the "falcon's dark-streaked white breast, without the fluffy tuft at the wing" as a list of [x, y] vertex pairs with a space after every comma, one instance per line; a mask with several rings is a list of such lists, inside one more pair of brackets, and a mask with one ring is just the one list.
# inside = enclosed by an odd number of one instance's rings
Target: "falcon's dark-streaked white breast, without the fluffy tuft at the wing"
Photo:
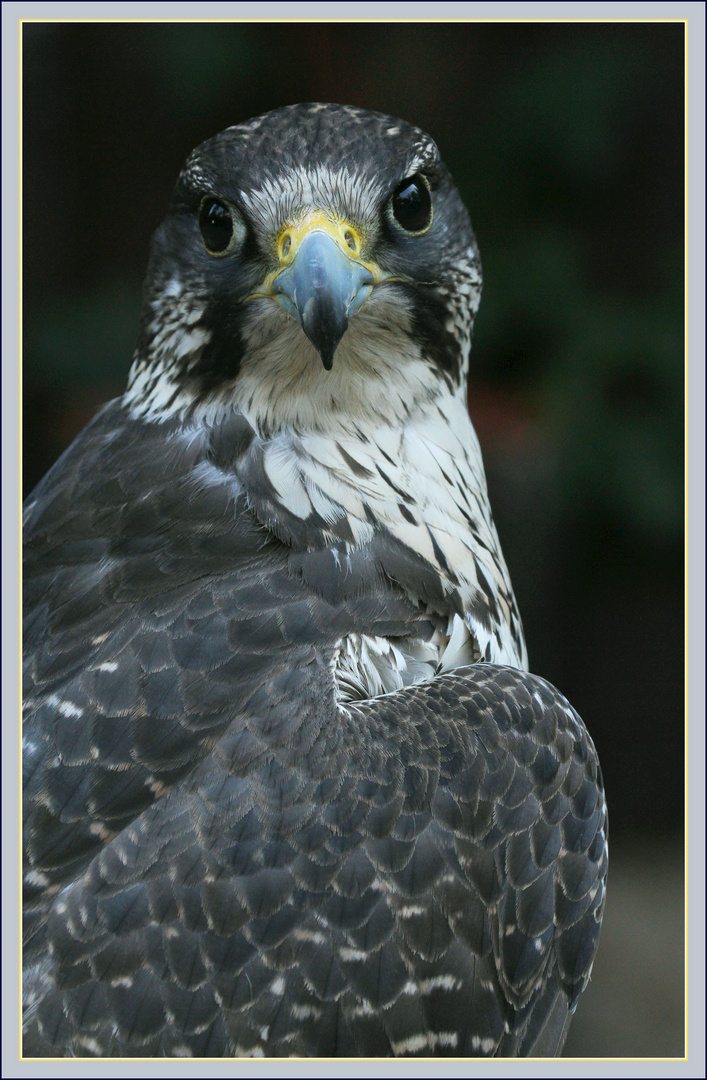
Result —
[[[296, 517], [315, 512], [334, 528], [345, 516], [355, 545], [371, 540], [381, 525], [421, 555], [445, 592], [459, 594], [476, 658], [527, 665], [478, 440], [461, 392], [418, 401], [414, 411], [395, 422], [373, 416], [328, 431], [283, 430], [266, 442], [263, 463], [277, 500]], [[491, 625], [474, 613], [484, 596], [498, 610]]]

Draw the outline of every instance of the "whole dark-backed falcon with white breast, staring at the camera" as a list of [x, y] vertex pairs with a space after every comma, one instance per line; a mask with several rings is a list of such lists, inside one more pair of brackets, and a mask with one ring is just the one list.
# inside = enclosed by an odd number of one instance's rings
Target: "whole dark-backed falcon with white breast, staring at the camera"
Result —
[[127, 389], [25, 508], [27, 1056], [559, 1053], [607, 816], [527, 671], [410, 124], [188, 159]]

